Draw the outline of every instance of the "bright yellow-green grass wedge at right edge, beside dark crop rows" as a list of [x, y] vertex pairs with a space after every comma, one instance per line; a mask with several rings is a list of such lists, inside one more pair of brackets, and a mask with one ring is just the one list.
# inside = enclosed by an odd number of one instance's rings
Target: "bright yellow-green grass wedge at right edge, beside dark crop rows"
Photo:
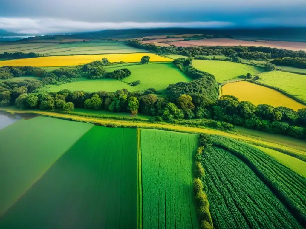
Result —
[[259, 150], [263, 151], [266, 154], [269, 154], [270, 156], [274, 157], [276, 160], [278, 160], [283, 165], [287, 166], [289, 169], [292, 169], [296, 173], [300, 174], [301, 176], [306, 177], [306, 162], [299, 160], [297, 158], [294, 158], [292, 156], [289, 156], [287, 154], [283, 154], [281, 152], [278, 152], [276, 150], [268, 149], [261, 146], [254, 146], [258, 148]]

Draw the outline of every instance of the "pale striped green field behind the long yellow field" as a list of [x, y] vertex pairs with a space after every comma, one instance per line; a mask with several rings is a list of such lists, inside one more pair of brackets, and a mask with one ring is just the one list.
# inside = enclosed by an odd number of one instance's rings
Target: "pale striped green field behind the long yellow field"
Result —
[[104, 54], [104, 53], [146, 53], [147, 50], [137, 49], [118, 41], [88, 41], [71, 43], [37, 42], [16, 45], [1, 45], [0, 53], [22, 52], [36, 53], [45, 56], [58, 55], [82, 55], [82, 54]]

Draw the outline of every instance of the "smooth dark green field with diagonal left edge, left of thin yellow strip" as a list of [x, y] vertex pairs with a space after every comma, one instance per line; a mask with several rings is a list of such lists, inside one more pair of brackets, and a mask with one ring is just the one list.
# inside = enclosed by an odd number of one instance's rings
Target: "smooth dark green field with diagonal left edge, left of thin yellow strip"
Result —
[[136, 129], [94, 126], [0, 218], [0, 228], [137, 228], [136, 192]]

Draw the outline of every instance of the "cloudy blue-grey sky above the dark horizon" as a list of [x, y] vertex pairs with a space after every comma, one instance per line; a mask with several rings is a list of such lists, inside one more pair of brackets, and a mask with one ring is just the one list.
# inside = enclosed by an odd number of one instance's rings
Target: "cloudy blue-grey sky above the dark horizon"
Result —
[[0, 29], [45, 35], [155, 27], [306, 26], [306, 0], [0, 0]]

